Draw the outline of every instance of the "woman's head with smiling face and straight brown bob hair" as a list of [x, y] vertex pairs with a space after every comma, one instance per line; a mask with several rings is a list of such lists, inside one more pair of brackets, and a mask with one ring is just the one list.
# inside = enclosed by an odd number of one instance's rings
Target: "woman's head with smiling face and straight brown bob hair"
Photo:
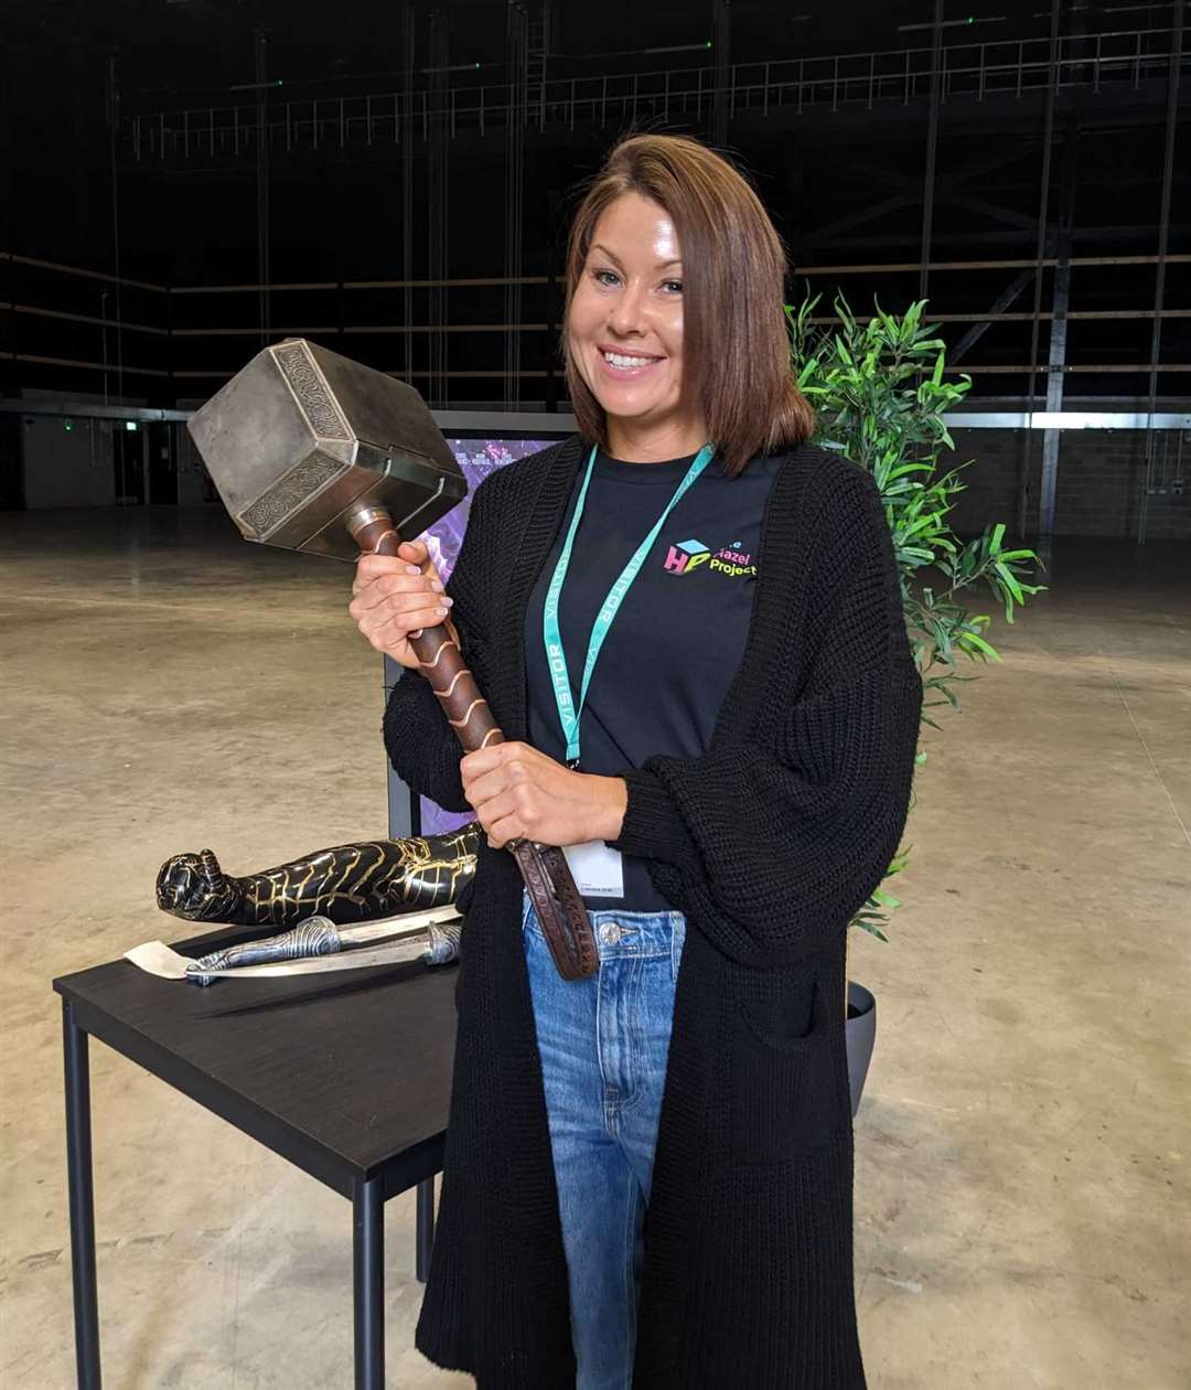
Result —
[[575, 213], [563, 348], [585, 438], [650, 461], [714, 439], [724, 471], [795, 448], [785, 256], [760, 199], [698, 140], [621, 142]]

